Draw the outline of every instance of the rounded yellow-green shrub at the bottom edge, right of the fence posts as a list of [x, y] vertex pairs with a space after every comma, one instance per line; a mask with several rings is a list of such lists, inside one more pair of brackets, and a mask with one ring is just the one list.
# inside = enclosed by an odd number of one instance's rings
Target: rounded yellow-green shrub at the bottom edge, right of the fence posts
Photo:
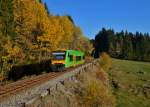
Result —
[[[81, 94], [81, 92], [80, 92]], [[115, 98], [102, 82], [92, 80], [80, 95], [81, 105], [85, 107], [114, 107]]]

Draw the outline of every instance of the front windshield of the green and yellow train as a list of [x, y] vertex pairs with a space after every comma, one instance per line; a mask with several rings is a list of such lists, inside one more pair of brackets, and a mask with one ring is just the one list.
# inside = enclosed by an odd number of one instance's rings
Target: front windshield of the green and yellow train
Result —
[[65, 60], [65, 52], [53, 52], [53, 60]]

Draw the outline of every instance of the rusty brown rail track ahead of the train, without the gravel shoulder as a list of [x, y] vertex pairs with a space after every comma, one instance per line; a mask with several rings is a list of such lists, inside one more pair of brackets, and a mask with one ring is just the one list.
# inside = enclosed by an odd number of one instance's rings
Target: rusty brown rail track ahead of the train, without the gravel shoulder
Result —
[[69, 70], [67, 70], [65, 72], [51, 72], [48, 74], [43, 74], [43, 75], [37, 76], [32, 79], [21, 80], [21, 81], [11, 83], [11, 84], [8, 84], [5, 86], [0, 86], [0, 101], [4, 100], [7, 97], [10, 97], [12, 95], [18, 94], [19, 92], [21, 92], [25, 89], [32, 88], [36, 85], [40, 85], [48, 80], [56, 78], [68, 71]]

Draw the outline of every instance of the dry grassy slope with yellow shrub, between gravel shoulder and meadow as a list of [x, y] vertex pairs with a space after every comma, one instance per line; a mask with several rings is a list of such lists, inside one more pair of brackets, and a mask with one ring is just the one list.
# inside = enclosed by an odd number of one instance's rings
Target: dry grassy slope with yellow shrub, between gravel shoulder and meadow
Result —
[[97, 63], [42, 101], [44, 107], [114, 107], [107, 73]]

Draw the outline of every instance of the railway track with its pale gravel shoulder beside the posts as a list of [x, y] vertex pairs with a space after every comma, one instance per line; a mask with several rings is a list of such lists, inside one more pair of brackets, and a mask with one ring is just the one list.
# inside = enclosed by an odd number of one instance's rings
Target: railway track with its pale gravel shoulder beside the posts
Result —
[[[0, 85], [0, 106], [22, 107], [41, 101], [43, 96], [57, 91], [64, 81], [73, 80], [76, 75], [93, 68], [98, 60], [85, 60], [85, 63], [65, 69], [63, 72], [50, 72], [34, 78]], [[39, 103], [39, 102], [38, 102]]]

